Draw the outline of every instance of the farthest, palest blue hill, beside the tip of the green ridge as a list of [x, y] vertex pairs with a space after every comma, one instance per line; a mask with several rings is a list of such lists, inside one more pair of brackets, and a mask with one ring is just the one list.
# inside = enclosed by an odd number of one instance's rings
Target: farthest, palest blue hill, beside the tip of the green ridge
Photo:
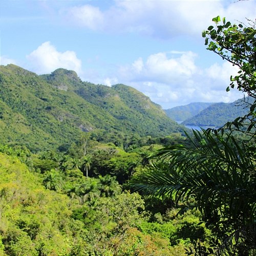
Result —
[[183, 106], [175, 106], [172, 109], [164, 110], [164, 112], [169, 118], [181, 122], [197, 115], [200, 111], [208, 108], [211, 104], [214, 103], [193, 102]]

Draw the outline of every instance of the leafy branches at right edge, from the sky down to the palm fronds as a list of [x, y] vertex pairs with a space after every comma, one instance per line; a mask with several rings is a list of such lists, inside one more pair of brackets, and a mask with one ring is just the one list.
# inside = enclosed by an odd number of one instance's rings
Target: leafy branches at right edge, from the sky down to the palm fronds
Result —
[[[214, 26], [209, 26], [203, 31], [205, 45], [210, 50], [223, 59], [239, 68], [238, 74], [230, 76], [230, 87], [237, 86], [239, 91], [247, 93], [254, 100], [250, 103], [250, 111], [243, 117], [238, 117], [232, 122], [226, 123], [218, 131], [242, 131], [252, 138], [256, 130], [256, 30], [255, 21], [248, 20], [248, 26], [244, 24], [231, 24], [217, 16], [212, 19]], [[226, 91], [230, 90], [227, 87]]]

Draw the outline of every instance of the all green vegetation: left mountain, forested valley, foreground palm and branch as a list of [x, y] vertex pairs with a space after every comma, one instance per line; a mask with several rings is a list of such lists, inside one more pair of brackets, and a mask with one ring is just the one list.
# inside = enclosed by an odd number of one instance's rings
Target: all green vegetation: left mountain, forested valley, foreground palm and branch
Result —
[[189, 133], [131, 87], [0, 70], [0, 255], [254, 255], [255, 28], [220, 17], [208, 49], [253, 100]]

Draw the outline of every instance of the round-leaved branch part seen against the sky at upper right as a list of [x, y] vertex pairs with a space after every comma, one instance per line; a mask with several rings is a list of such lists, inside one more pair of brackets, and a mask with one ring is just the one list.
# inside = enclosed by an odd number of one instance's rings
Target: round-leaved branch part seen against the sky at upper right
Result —
[[[240, 71], [238, 75], [231, 76], [230, 87], [234, 88], [237, 84], [238, 89], [256, 97], [255, 79], [256, 79], [256, 30], [255, 22], [251, 27], [245, 27], [243, 24], [231, 25], [223, 18], [217, 16], [212, 19], [216, 24], [209, 26], [203, 31], [202, 36], [205, 38], [207, 50], [213, 51], [223, 59], [231, 62], [233, 66], [238, 66]], [[210, 42], [209, 42], [210, 39]], [[229, 91], [229, 87], [227, 88]]]

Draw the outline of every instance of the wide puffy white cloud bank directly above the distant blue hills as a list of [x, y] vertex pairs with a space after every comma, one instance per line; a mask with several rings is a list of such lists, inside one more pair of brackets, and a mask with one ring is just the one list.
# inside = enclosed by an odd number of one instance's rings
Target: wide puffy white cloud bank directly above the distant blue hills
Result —
[[237, 90], [225, 92], [230, 75], [238, 72], [231, 63], [200, 68], [195, 53], [172, 53], [152, 54], [145, 60], [140, 57], [131, 65], [120, 67], [118, 80], [143, 92], [165, 109], [190, 102], [231, 102], [243, 97]]

